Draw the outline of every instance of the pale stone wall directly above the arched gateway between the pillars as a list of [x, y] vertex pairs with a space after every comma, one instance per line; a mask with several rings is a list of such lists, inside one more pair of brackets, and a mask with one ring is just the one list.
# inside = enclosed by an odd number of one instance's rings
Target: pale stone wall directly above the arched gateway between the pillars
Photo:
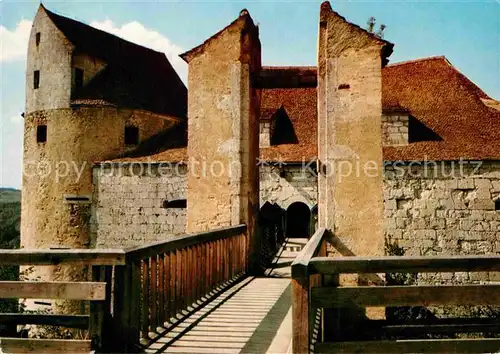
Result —
[[287, 209], [303, 202], [312, 209], [318, 202], [318, 178], [313, 170], [296, 166], [260, 167], [260, 206], [269, 202]]

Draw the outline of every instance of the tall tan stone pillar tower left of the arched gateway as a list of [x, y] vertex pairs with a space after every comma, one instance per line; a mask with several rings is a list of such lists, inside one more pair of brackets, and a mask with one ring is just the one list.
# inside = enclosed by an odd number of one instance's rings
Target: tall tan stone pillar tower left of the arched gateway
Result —
[[255, 256], [259, 207], [261, 68], [258, 28], [246, 10], [182, 55], [189, 63], [187, 231], [246, 224]]

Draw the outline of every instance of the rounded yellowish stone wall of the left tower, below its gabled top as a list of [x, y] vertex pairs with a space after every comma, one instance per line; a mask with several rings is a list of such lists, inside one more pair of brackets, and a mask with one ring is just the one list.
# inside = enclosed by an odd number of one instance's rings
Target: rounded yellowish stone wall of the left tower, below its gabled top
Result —
[[[139, 127], [142, 140], [162, 130], [165, 119], [111, 107], [38, 110], [25, 116], [22, 247], [90, 246], [92, 164], [126, 152], [124, 127], [130, 123]], [[44, 143], [37, 143], [40, 124], [47, 125]], [[76, 281], [86, 279], [87, 274], [78, 266], [54, 266], [35, 268], [29, 276]], [[32, 308], [32, 302], [27, 306]], [[78, 312], [80, 307], [61, 304], [61, 311], [66, 308]]]

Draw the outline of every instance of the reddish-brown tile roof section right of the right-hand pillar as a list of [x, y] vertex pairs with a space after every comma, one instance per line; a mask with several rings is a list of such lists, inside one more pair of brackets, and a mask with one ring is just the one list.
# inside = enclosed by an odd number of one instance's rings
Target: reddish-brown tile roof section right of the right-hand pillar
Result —
[[382, 71], [382, 105], [399, 105], [443, 140], [385, 147], [386, 160], [500, 159], [500, 111], [445, 57], [389, 65]]

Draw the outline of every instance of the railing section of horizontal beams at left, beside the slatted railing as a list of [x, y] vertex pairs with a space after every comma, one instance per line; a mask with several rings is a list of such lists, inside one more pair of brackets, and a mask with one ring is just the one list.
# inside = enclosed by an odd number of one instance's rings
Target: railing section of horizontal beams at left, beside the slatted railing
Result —
[[125, 265], [123, 250], [0, 250], [0, 265], [87, 266], [92, 281], [0, 281], [0, 298], [85, 300], [90, 302], [89, 315], [59, 315], [38, 312], [1, 313], [4, 325], [51, 325], [88, 329], [88, 339], [0, 338], [0, 352], [90, 352], [101, 348], [111, 313], [111, 270]]

